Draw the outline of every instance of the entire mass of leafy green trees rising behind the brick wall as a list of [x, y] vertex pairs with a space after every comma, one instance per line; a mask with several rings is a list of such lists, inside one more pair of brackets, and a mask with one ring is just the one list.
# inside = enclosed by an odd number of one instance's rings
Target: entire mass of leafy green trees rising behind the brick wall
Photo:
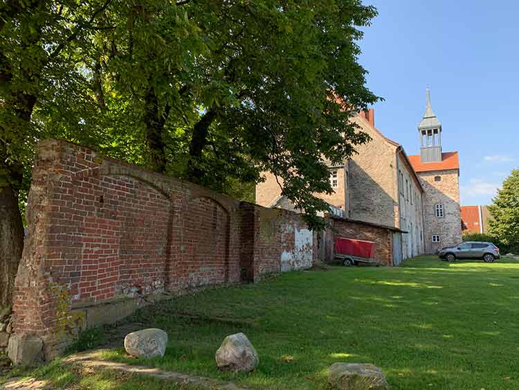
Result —
[[377, 100], [358, 64], [376, 10], [361, 0], [9, 0], [0, 12], [4, 285], [43, 136], [226, 193], [268, 170], [314, 226], [325, 159], [369, 139], [348, 121]]

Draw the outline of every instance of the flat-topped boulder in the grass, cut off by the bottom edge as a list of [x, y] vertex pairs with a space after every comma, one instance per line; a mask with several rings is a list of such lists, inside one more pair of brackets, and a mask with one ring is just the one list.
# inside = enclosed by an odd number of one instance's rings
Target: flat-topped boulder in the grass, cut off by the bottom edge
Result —
[[334, 363], [331, 364], [328, 382], [340, 390], [388, 390], [388, 380], [373, 364]]

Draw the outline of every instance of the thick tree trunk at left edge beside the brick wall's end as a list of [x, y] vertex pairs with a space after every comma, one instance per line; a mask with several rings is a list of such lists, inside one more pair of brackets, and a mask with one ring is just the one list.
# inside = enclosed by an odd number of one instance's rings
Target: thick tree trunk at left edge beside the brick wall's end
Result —
[[12, 293], [21, 251], [24, 248], [24, 224], [18, 196], [8, 184], [0, 187], [0, 305], [12, 304]]

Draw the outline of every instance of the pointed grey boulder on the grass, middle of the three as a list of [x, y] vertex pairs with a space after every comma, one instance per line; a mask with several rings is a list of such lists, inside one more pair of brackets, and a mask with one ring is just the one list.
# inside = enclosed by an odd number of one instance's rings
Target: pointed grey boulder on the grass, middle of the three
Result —
[[243, 333], [227, 336], [216, 353], [218, 369], [224, 371], [253, 371], [260, 358]]

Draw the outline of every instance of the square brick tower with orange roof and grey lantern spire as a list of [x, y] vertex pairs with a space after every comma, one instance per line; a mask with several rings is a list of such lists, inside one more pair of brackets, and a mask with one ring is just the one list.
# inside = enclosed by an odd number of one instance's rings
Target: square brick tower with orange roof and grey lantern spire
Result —
[[456, 245], [462, 240], [457, 152], [443, 152], [441, 123], [426, 92], [426, 112], [418, 125], [420, 154], [409, 156], [424, 188], [424, 242], [426, 253]]

